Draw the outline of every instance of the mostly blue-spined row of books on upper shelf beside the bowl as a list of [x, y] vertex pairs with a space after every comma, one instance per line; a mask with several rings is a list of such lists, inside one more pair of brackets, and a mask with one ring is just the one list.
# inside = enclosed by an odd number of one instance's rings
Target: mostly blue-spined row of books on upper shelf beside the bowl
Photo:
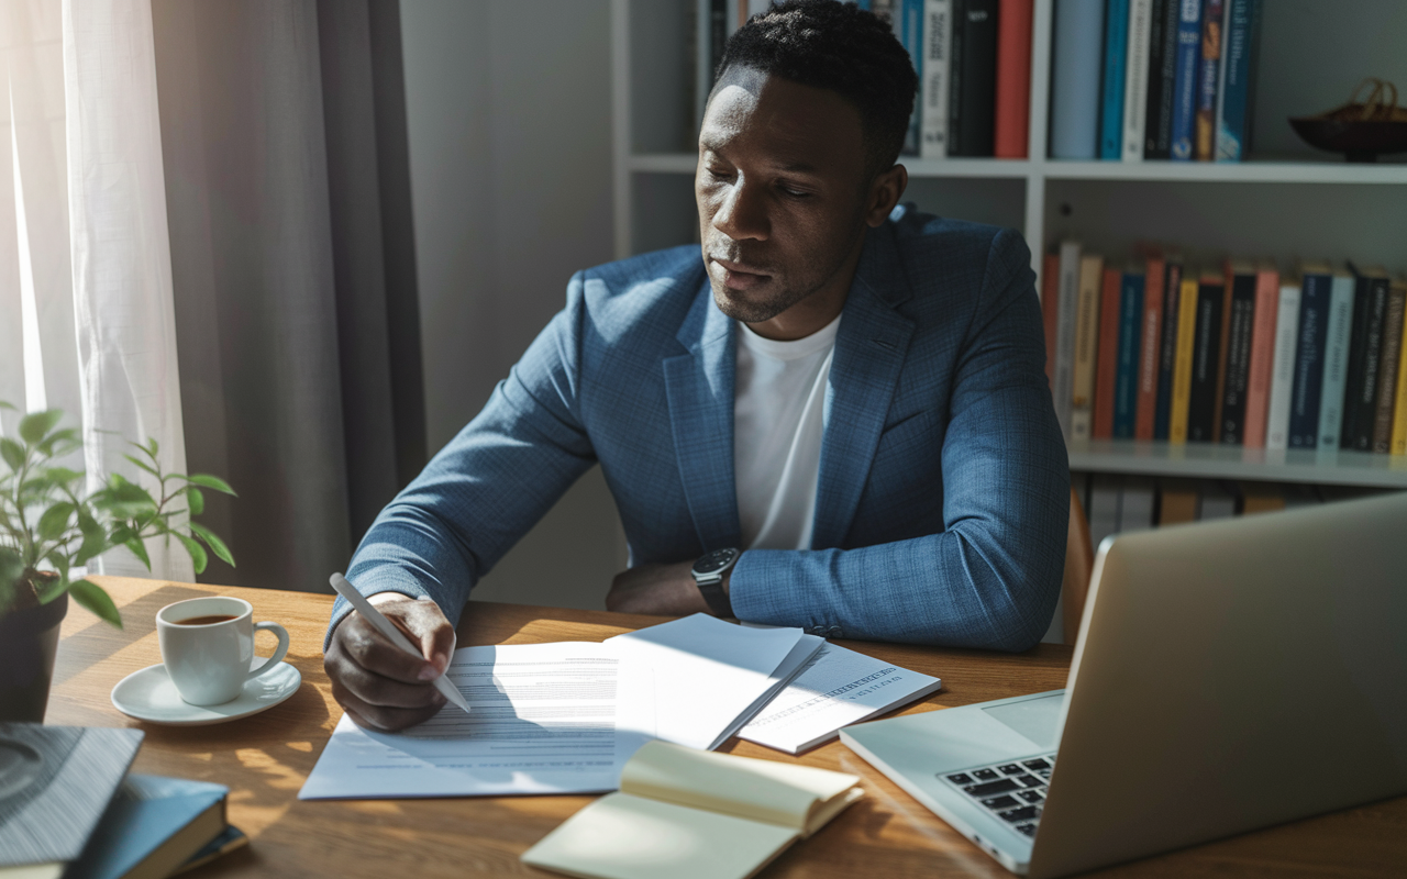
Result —
[[1059, 0], [1057, 159], [1240, 162], [1259, 0]]

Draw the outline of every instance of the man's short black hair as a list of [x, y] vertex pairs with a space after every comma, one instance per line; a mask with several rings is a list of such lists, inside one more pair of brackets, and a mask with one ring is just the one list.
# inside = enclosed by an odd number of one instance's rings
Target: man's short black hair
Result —
[[785, 0], [753, 15], [723, 49], [733, 66], [839, 93], [860, 111], [871, 173], [898, 160], [919, 75], [888, 21], [854, 3]]

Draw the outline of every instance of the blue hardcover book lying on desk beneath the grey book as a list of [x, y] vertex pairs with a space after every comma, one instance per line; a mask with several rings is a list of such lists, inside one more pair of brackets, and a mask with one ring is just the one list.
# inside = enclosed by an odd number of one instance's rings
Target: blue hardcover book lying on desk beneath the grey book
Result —
[[169, 876], [225, 831], [224, 785], [128, 775], [65, 879]]

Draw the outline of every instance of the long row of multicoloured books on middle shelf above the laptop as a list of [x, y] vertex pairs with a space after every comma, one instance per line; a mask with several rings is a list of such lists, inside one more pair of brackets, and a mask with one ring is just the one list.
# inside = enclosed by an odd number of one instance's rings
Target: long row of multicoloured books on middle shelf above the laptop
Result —
[[1065, 240], [1041, 308], [1068, 439], [1407, 454], [1407, 278], [1380, 267], [1119, 264]]

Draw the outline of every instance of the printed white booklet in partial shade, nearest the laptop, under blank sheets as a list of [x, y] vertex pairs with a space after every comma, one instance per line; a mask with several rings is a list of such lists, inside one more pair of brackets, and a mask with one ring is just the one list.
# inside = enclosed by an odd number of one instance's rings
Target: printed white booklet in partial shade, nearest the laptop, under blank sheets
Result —
[[767, 703], [737, 736], [799, 754], [830, 741], [843, 726], [909, 705], [940, 686], [938, 678], [825, 644], [791, 686]]

